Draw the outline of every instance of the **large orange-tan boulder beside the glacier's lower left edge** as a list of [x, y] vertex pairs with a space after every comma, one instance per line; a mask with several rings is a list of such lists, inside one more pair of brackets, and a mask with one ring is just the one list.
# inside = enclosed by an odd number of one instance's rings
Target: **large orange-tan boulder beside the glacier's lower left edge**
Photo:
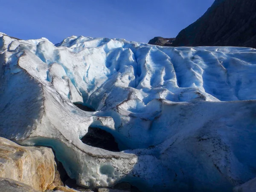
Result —
[[39, 191], [52, 188], [54, 179], [57, 180], [53, 152], [46, 147], [20, 146], [0, 137], [0, 177], [25, 183]]

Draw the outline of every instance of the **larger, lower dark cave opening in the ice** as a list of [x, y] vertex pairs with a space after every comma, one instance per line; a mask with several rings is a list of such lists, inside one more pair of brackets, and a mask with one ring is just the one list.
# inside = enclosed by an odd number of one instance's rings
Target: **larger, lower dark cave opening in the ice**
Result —
[[87, 134], [81, 138], [81, 141], [87, 145], [108, 151], [120, 151], [113, 135], [101, 128], [89, 127]]

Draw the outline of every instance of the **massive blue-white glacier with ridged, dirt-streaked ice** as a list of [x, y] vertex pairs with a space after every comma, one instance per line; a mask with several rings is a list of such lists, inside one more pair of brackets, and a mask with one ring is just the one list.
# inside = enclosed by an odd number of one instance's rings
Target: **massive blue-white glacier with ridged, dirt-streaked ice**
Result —
[[[231, 192], [256, 177], [255, 74], [253, 48], [0, 33], [0, 137], [52, 147], [80, 186]], [[120, 152], [84, 144], [89, 127]]]

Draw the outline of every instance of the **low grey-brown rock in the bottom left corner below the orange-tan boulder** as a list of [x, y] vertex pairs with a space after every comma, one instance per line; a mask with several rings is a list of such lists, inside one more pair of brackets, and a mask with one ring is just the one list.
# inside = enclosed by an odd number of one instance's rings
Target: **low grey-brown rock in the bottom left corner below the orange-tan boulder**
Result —
[[0, 178], [0, 192], [39, 192], [31, 186], [9, 178]]

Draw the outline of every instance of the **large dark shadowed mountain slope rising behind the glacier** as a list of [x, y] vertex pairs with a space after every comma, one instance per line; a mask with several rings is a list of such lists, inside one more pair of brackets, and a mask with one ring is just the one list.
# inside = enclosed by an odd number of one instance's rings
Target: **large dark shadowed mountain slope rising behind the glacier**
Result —
[[255, 26], [255, 0], [215, 0], [202, 17], [177, 35], [172, 46], [256, 48]]

